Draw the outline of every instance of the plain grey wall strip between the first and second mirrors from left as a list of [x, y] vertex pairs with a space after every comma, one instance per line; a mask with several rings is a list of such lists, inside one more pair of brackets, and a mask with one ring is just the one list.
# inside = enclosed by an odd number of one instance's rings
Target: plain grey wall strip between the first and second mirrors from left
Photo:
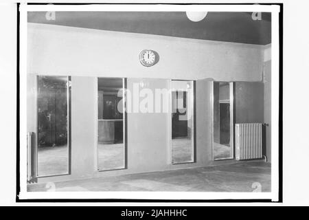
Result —
[[96, 80], [71, 77], [71, 175], [91, 177], [95, 173]]

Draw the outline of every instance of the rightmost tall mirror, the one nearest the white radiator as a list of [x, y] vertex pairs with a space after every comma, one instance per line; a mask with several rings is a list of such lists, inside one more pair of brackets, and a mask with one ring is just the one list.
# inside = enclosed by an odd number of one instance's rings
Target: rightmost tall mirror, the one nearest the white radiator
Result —
[[230, 91], [230, 83], [214, 83], [214, 159], [233, 157]]

